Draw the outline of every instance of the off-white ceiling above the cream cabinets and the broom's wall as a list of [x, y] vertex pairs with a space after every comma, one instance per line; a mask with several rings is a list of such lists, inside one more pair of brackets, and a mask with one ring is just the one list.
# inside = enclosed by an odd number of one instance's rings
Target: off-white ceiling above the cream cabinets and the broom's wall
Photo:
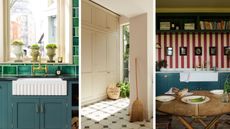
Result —
[[111, 11], [126, 17], [137, 16], [153, 8], [152, 0], [92, 0]]

